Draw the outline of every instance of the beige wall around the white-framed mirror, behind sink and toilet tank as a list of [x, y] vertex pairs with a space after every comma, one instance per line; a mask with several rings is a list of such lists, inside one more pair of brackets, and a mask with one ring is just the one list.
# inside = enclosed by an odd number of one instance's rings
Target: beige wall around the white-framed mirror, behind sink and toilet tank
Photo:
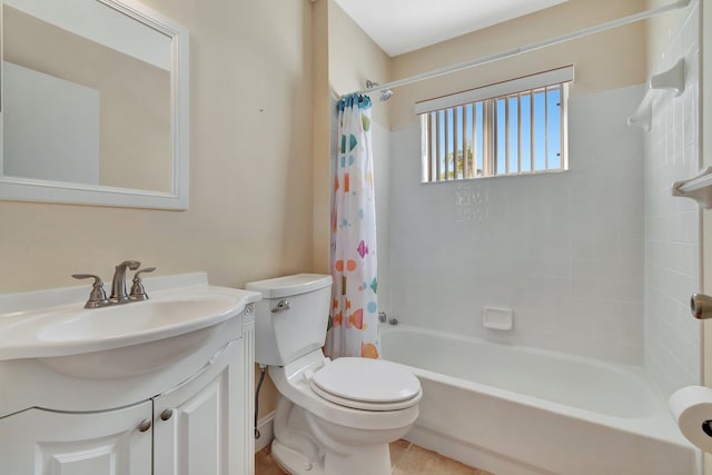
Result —
[[312, 270], [310, 2], [145, 3], [190, 30], [190, 209], [0, 201], [0, 291], [129, 258], [235, 287]]

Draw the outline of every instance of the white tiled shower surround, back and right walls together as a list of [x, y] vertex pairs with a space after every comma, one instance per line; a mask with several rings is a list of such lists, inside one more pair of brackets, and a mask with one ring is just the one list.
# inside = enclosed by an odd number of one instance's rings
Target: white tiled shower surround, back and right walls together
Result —
[[[642, 87], [571, 99], [566, 172], [421, 185], [418, 126], [380, 131], [380, 308], [426, 328], [644, 363], [665, 395], [699, 383], [699, 211], [671, 195], [699, 169], [698, 11], [657, 68], [684, 56], [685, 90], [660, 95], [650, 132], [625, 125]], [[514, 329], [484, 328], [484, 306], [512, 308]]]

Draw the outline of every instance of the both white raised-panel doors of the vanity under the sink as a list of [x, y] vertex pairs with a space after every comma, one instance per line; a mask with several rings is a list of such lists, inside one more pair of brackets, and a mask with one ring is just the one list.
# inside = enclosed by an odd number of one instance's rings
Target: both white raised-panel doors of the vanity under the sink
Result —
[[0, 418], [0, 474], [250, 475], [245, 343], [228, 343], [186, 382], [129, 407]]

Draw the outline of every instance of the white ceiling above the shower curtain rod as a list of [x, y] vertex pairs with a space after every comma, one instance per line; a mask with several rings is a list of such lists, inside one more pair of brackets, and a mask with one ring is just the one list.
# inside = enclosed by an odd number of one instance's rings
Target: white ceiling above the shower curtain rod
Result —
[[414, 51], [566, 0], [335, 0], [388, 56]]

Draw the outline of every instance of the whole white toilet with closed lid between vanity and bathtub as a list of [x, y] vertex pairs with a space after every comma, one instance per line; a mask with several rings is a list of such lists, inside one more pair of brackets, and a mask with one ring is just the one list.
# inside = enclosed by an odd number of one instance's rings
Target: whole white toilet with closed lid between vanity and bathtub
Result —
[[279, 400], [273, 457], [296, 475], [389, 475], [388, 444], [418, 416], [418, 379], [386, 360], [322, 353], [332, 277], [299, 274], [247, 284], [255, 309], [255, 360], [268, 366]]

